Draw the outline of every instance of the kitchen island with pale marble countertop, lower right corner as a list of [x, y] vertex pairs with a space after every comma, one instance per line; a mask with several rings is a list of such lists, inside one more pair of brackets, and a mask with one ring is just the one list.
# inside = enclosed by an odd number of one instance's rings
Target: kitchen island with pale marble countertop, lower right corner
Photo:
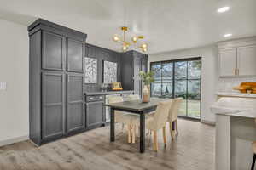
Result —
[[256, 140], [256, 99], [224, 97], [212, 105], [216, 113], [216, 170], [246, 170]]

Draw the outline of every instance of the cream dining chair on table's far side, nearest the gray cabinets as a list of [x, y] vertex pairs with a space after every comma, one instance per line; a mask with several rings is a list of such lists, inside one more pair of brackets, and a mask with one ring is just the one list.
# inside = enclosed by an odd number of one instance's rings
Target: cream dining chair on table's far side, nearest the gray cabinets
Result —
[[[108, 96], [109, 104], [119, 103], [123, 101], [124, 100], [121, 96]], [[128, 143], [131, 143], [131, 123], [129, 123], [129, 119], [126, 119], [125, 115], [127, 114], [129, 113], [125, 111], [114, 111], [114, 122], [122, 123], [122, 132], [124, 130], [125, 124], [127, 125]]]

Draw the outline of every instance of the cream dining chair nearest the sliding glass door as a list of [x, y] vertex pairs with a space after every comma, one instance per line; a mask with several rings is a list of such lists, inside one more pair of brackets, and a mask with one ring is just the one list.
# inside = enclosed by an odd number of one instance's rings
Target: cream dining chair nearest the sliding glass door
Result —
[[[177, 115], [180, 108], [180, 105], [183, 101], [183, 98], [176, 98], [173, 99], [172, 107], [169, 111], [168, 121], [169, 127], [170, 127], [170, 133], [172, 136], [172, 140], [175, 138], [175, 136], [178, 135], [177, 131]], [[173, 124], [175, 124], [175, 127], [173, 127]]]

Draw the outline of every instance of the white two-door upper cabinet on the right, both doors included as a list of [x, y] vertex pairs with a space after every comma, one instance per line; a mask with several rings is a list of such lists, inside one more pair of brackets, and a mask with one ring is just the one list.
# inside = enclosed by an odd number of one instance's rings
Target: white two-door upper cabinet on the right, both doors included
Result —
[[219, 77], [256, 77], [256, 37], [218, 43]]

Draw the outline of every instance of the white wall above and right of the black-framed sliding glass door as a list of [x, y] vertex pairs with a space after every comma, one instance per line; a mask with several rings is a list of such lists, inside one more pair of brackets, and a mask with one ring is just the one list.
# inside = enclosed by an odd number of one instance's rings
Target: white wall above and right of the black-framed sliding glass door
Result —
[[[210, 45], [201, 48], [189, 48], [172, 52], [149, 55], [148, 61], [186, 59], [202, 57], [201, 67], [201, 121], [215, 122], [210, 106], [216, 101], [218, 90], [218, 47]], [[149, 67], [148, 67], [149, 68]]]

